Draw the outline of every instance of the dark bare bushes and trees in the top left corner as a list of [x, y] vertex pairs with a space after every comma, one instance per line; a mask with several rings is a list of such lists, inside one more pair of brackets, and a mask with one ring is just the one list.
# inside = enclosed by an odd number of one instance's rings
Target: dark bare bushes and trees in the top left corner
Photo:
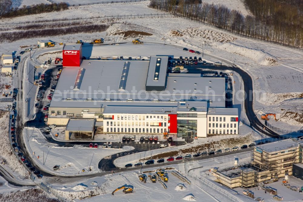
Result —
[[12, 8], [12, 0], [0, 0], [0, 17], [11, 18], [23, 15], [32, 15], [45, 12], [62, 11], [68, 9], [68, 4], [52, 3], [52, 4], [36, 4], [26, 6], [23, 5], [21, 8]]

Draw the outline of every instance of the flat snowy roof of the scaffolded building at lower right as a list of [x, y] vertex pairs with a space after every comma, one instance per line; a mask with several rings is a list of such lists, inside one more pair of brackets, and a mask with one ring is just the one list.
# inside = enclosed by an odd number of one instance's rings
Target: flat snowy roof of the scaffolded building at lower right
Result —
[[275, 152], [280, 150], [292, 150], [292, 148], [297, 146], [298, 146], [298, 142], [291, 139], [286, 139], [286, 140], [257, 145], [255, 147], [266, 152]]

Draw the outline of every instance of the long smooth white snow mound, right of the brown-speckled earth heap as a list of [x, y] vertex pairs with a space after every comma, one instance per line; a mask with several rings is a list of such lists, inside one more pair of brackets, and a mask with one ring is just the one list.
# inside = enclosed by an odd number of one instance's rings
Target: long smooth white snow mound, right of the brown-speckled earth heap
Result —
[[234, 43], [213, 43], [215, 48], [235, 53], [240, 56], [248, 57], [262, 66], [278, 65], [278, 60], [274, 56], [269, 55], [261, 50], [250, 49], [248, 47], [237, 45]]

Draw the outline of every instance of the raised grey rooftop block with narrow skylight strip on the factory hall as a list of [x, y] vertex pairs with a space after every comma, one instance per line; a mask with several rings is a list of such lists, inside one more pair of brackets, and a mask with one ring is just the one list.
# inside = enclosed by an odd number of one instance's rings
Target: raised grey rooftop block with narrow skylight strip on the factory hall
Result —
[[168, 56], [151, 56], [146, 78], [146, 91], [165, 90]]

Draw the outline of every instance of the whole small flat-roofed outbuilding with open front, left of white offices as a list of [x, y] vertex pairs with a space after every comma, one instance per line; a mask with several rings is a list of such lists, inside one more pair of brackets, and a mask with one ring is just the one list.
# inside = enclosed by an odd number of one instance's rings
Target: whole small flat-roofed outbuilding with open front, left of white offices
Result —
[[65, 140], [92, 140], [95, 133], [95, 119], [70, 119], [65, 130]]

